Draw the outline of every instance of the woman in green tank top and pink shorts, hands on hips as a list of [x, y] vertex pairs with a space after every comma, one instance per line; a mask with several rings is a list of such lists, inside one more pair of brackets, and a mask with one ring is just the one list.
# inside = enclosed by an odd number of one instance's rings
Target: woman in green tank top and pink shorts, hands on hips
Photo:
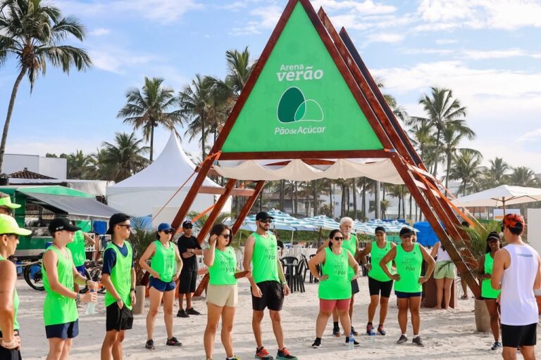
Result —
[[[342, 328], [351, 329], [352, 327], [351, 319], [349, 319], [349, 302], [352, 298], [352, 280], [357, 278], [356, 274], [359, 274], [359, 264], [351, 252], [342, 248], [343, 240], [342, 231], [338, 229], [330, 231], [328, 248], [318, 252], [308, 262], [310, 272], [319, 281], [319, 314], [316, 320], [316, 340], [312, 344], [314, 349], [321, 347], [323, 331], [333, 309], [337, 309]], [[319, 264], [323, 264], [322, 276], [318, 274], [316, 268]], [[349, 268], [353, 269], [353, 278], [350, 277]], [[346, 336], [347, 342], [349, 342], [349, 336]], [[354, 346], [359, 346], [359, 343], [354, 341]]]

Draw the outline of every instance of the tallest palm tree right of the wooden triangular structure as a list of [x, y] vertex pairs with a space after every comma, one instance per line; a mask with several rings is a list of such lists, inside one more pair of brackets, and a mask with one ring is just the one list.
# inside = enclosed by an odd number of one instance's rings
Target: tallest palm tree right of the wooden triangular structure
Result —
[[427, 117], [410, 117], [408, 123], [430, 124], [430, 127], [435, 129], [436, 143], [433, 176], [436, 176], [443, 133], [447, 127], [456, 127], [464, 122], [460, 118], [466, 116], [466, 108], [460, 105], [458, 99], [453, 99], [451, 89], [440, 89], [437, 87], [432, 88], [432, 97], [425, 94], [419, 100], [419, 104], [423, 105]]

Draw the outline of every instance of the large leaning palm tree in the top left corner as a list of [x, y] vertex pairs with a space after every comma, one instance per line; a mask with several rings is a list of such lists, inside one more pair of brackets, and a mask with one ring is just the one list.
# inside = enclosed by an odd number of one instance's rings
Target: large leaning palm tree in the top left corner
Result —
[[27, 75], [32, 92], [38, 75], [45, 75], [47, 63], [66, 73], [72, 67], [81, 71], [92, 65], [85, 50], [62, 44], [70, 37], [82, 41], [85, 39], [85, 29], [77, 18], [64, 18], [59, 8], [42, 0], [0, 2], [0, 65], [13, 56], [19, 69], [0, 141], [0, 173], [13, 106], [23, 77]]

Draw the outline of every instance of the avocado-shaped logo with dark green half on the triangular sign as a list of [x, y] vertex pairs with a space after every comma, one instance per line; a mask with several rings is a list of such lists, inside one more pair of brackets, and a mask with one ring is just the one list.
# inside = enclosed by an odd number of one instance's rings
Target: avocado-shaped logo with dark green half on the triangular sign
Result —
[[306, 99], [297, 86], [291, 86], [280, 96], [276, 115], [278, 121], [282, 122], [282, 124], [301, 121], [323, 121], [321, 105], [315, 100]]

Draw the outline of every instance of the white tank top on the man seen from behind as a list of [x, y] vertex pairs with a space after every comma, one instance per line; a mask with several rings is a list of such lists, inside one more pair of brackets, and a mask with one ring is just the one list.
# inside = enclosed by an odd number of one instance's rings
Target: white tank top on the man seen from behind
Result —
[[539, 264], [537, 252], [530, 245], [506, 245], [511, 265], [502, 276], [502, 323], [523, 326], [539, 322], [533, 283]]

